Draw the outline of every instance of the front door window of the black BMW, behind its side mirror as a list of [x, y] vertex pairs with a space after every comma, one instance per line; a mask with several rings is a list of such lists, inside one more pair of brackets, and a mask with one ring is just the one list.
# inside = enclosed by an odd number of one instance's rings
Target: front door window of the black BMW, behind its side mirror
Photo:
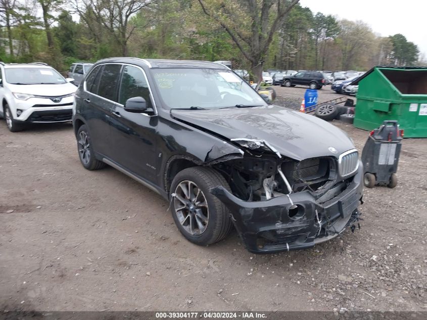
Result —
[[124, 105], [126, 100], [134, 97], [143, 97], [148, 108], [153, 108], [150, 100], [150, 90], [143, 71], [136, 67], [126, 66], [123, 69], [120, 84], [119, 103]]

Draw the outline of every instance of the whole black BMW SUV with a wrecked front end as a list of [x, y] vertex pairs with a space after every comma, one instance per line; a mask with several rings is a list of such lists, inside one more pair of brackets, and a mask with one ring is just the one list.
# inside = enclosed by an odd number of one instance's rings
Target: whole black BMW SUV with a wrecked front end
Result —
[[234, 225], [251, 252], [308, 248], [360, 214], [363, 169], [348, 136], [267, 104], [216, 63], [98, 61], [73, 124], [86, 169], [108, 164], [162, 195], [199, 245]]

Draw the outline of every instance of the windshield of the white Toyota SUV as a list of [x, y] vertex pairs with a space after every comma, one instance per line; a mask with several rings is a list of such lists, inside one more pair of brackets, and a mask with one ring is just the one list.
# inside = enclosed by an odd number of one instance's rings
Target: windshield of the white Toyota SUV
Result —
[[51, 68], [7, 68], [6, 81], [10, 84], [63, 84], [67, 83], [58, 71]]

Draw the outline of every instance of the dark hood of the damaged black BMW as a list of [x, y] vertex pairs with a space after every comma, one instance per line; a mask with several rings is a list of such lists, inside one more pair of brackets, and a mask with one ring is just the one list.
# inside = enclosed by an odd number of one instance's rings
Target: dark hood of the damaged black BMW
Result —
[[[338, 157], [355, 148], [350, 138], [336, 126], [315, 116], [278, 106], [175, 109], [171, 110], [171, 116], [226, 140], [245, 138], [265, 141], [281, 155], [299, 161], [320, 156]], [[334, 148], [336, 153], [330, 151], [335, 151]]]

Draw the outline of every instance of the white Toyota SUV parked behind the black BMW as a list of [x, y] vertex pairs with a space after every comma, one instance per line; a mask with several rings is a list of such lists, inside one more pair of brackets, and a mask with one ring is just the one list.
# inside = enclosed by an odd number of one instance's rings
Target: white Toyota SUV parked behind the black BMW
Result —
[[9, 130], [26, 123], [71, 121], [77, 87], [45, 63], [0, 62], [0, 116]]

